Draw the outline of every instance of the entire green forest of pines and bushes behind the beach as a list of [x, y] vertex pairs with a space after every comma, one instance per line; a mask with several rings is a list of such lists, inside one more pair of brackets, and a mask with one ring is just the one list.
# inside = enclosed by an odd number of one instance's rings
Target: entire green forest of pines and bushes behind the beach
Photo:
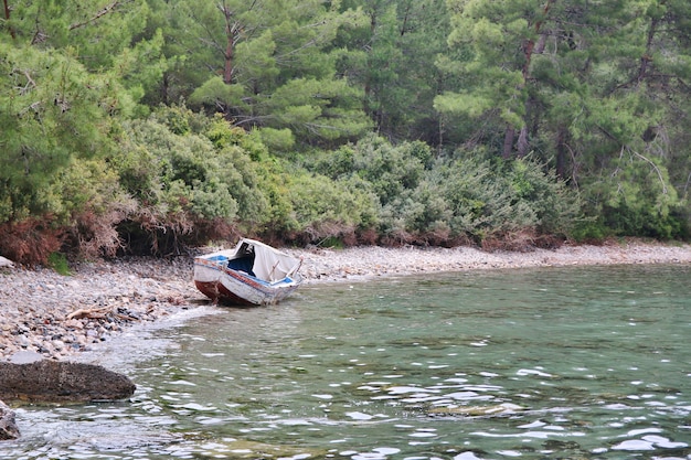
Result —
[[3, 0], [0, 254], [691, 236], [681, 0]]

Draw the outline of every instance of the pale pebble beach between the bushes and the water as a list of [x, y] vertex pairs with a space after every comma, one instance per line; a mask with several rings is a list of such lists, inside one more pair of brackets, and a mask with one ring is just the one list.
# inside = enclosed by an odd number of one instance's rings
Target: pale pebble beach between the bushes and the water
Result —
[[[470, 247], [287, 252], [304, 258], [300, 272], [309, 284], [476, 269], [691, 264], [691, 245], [640, 242], [529, 253]], [[72, 271], [62, 276], [51, 269], [0, 268], [0, 360], [18, 352], [64, 360], [135, 323], [209, 303], [192, 282], [191, 257], [82, 263]]]

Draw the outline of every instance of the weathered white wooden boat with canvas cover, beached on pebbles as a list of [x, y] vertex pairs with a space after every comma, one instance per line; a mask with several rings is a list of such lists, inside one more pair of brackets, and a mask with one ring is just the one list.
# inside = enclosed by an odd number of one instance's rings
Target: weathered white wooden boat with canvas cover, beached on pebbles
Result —
[[301, 259], [264, 243], [242, 238], [234, 249], [194, 258], [194, 285], [214, 303], [277, 303], [302, 282]]

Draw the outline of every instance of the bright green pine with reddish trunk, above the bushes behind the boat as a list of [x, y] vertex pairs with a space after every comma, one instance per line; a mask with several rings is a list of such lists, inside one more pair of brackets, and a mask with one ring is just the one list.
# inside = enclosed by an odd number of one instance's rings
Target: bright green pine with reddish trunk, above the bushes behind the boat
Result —
[[[370, 125], [360, 94], [336, 74], [331, 43], [349, 12], [322, 1], [171, 1], [167, 74], [194, 107], [266, 139], [326, 143]], [[171, 93], [170, 86], [166, 93]], [[170, 101], [170, 98], [167, 98]]]

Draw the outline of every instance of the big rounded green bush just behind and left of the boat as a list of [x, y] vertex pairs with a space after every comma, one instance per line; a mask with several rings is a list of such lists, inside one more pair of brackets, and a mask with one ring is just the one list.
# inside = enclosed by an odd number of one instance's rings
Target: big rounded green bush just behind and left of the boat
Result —
[[[200, 133], [178, 135], [160, 119], [159, 114], [125, 124], [121, 149], [109, 159], [137, 203], [118, 226], [127, 239], [149, 240], [151, 248], [160, 250], [188, 240], [204, 243], [206, 232], [215, 235], [220, 225], [232, 226], [238, 218], [248, 226], [266, 218], [268, 204], [259, 191], [259, 175], [237, 145], [243, 135], [224, 131], [219, 120], [187, 124]], [[179, 117], [173, 119], [177, 126], [185, 125]], [[146, 244], [140, 246], [146, 250]]]

